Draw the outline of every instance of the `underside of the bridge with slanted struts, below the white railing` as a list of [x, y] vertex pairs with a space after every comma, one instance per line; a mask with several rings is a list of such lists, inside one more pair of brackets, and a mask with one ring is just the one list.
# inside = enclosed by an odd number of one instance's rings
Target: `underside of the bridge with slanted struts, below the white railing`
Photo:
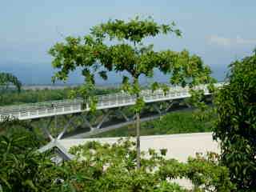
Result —
[[[148, 121], [161, 117], [172, 110], [181, 110], [190, 107], [184, 100], [171, 100], [166, 102], [148, 103], [142, 111], [141, 121]], [[38, 121], [34, 119], [33, 121]], [[40, 119], [39, 121], [42, 121]], [[98, 110], [95, 114], [83, 112], [70, 115], [44, 118], [44, 126], [40, 126], [50, 142], [39, 151], [45, 152], [57, 148], [62, 159], [73, 158], [71, 154], [60, 144], [62, 138], [86, 138], [91, 135], [117, 129], [134, 123], [134, 113], [131, 107], [116, 107]], [[62, 128], [62, 129], [60, 129]]]

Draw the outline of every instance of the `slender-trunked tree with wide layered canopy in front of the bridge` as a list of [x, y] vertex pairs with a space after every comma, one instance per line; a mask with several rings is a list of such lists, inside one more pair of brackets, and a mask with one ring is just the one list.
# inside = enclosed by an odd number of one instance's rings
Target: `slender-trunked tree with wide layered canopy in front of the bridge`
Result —
[[[181, 36], [180, 30], [175, 28], [174, 22], [158, 24], [152, 18], [110, 20], [90, 30], [90, 34], [82, 38], [66, 38], [66, 43], [57, 43], [50, 49], [54, 57], [54, 68], [60, 69], [54, 79], [66, 80], [70, 71], [82, 67], [82, 74], [86, 83], [81, 89], [86, 99], [94, 87], [94, 73], [98, 72], [104, 79], [107, 71], [127, 72], [130, 76], [123, 76], [122, 89], [134, 95], [136, 104], [137, 131], [137, 167], [140, 167], [140, 111], [144, 106], [141, 95], [139, 77], [152, 77], [154, 70], [161, 70], [164, 74], [171, 74], [170, 83], [173, 85], [191, 87], [199, 83], [211, 82], [210, 68], [205, 66], [202, 59], [190, 55], [187, 50], [175, 52], [172, 50], [154, 51], [153, 45], [143, 44], [145, 38], [154, 38], [159, 34], [174, 33]], [[105, 68], [105, 69], [103, 69]], [[131, 81], [130, 81], [131, 78]], [[152, 84], [152, 90], [168, 87], [158, 82]]]

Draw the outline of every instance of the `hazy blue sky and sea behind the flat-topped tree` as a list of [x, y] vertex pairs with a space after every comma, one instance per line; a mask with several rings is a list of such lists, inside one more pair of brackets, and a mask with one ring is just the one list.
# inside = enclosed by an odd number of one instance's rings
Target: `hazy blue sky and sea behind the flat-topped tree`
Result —
[[[256, 47], [255, 8], [255, 0], [1, 0], [0, 71], [25, 84], [50, 83], [54, 70], [47, 51], [63, 37], [83, 36], [109, 19], [151, 16], [159, 23], [174, 21], [182, 30], [182, 38], [170, 34], [150, 39], [155, 50], [189, 50], [222, 79], [230, 62]], [[118, 79], [111, 74], [109, 83]], [[79, 71], [69, 82], [82, 82]]]

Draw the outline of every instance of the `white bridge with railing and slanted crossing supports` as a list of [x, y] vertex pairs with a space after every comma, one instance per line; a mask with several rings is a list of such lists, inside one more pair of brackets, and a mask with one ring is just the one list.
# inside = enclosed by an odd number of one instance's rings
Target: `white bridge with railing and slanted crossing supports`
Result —
[[[215, 87], [221, 87], [222, 82], [215, 83]], [[200, 85], [195, 87], [196, 90], [203, 90], [205, 95], [209, 95], [210, 92], [207, 89], [206, 85]], [[142, 98], [146, 103], [152, 103], [154, 109], [158, 111], [159, 114], [162, 114], [162, 109], [160, 109], [155, 103], [157, 102], [167, 102], [168, 105], [164, 109], [165, 111], [169, 110], [173, 105], [175, 100], [180, 100], [184, 98], [190, 98], [190, 88], [181, 87], [181, 86], [171, 86], [170, 90], [167, 93], [164, 93], [163, 90], [142, 90]], [[54, 138], [50, 134], [49, 126], [50, 122], [53, 121], [59, 115], [74, 115], [79, 114], [83, 120], [83, 123], [86, 126], [90, 127], [91, 132], [100, 130], [102, 123], [106, 121], [106, 118], [110, 115], [110, 109], [114, 109], [115, 113], [119, 113], [126, 120], [126, 122], [133, 121], [133, 118], [128, 118], [125, 113], [122, 112], [122, 107], [133, 106], [136, 102], [134, 95], [126, 93], [115, 93], [115, 94], [105, 94], [98, 95], [97, 97], [97, 110], [102, 110], [101, 120], [96, 125], [92, 125], [87, 119], [86, 114], [90, 111], [90, 106], [88, 103], [84, 103], [82, 99], [74, 100], [60, 100], [60, 101], [50, 101], [50, 102], [38, 102], [31, 104], [22, 104], [16, 106], [2, 106], [0, 107], [0, 122], [4, 121], [6, 118], [16, 118], [19, 120], [31, 120], [38, 118], [50, 118], [49, 123], [46, 126], [42, 127], [42, 130], [46, 136], [50, 139], [50, 143], [46, 146], [43, 146], [39, 151], [44, 152], [50, 150], [54, 147], [58, 148], [58, 152], [61, 154], [62, 158], [70, 159], [72, 155], [69, 154], [66, 149], [60, 144], [59, 140], [66, 133], [66, 130], [69, 126], [74, 125], [74, 117], [72, 116], [66, 123], [66, 126], [63, 127], [62, 131]]]

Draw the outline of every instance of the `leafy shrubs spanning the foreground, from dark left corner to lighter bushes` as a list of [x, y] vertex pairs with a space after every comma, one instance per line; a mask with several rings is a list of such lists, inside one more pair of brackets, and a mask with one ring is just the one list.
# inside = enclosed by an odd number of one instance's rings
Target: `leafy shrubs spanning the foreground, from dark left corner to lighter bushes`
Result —
[[138, 170], [134, 142], [87, 142], [71, 149], [76, 159], [54, 165], [50, 154], [38, 154], [33, 137], [24, 131], [22, 137], [0, 136], [0, 191], [190, 191], [172, 182], [174, 178], [189, 179], [193, 191], [234, 189], [216, 154], [184, 163], [164, 158], [166, 150], [149, 150], [149, 158], [142, 154]]

